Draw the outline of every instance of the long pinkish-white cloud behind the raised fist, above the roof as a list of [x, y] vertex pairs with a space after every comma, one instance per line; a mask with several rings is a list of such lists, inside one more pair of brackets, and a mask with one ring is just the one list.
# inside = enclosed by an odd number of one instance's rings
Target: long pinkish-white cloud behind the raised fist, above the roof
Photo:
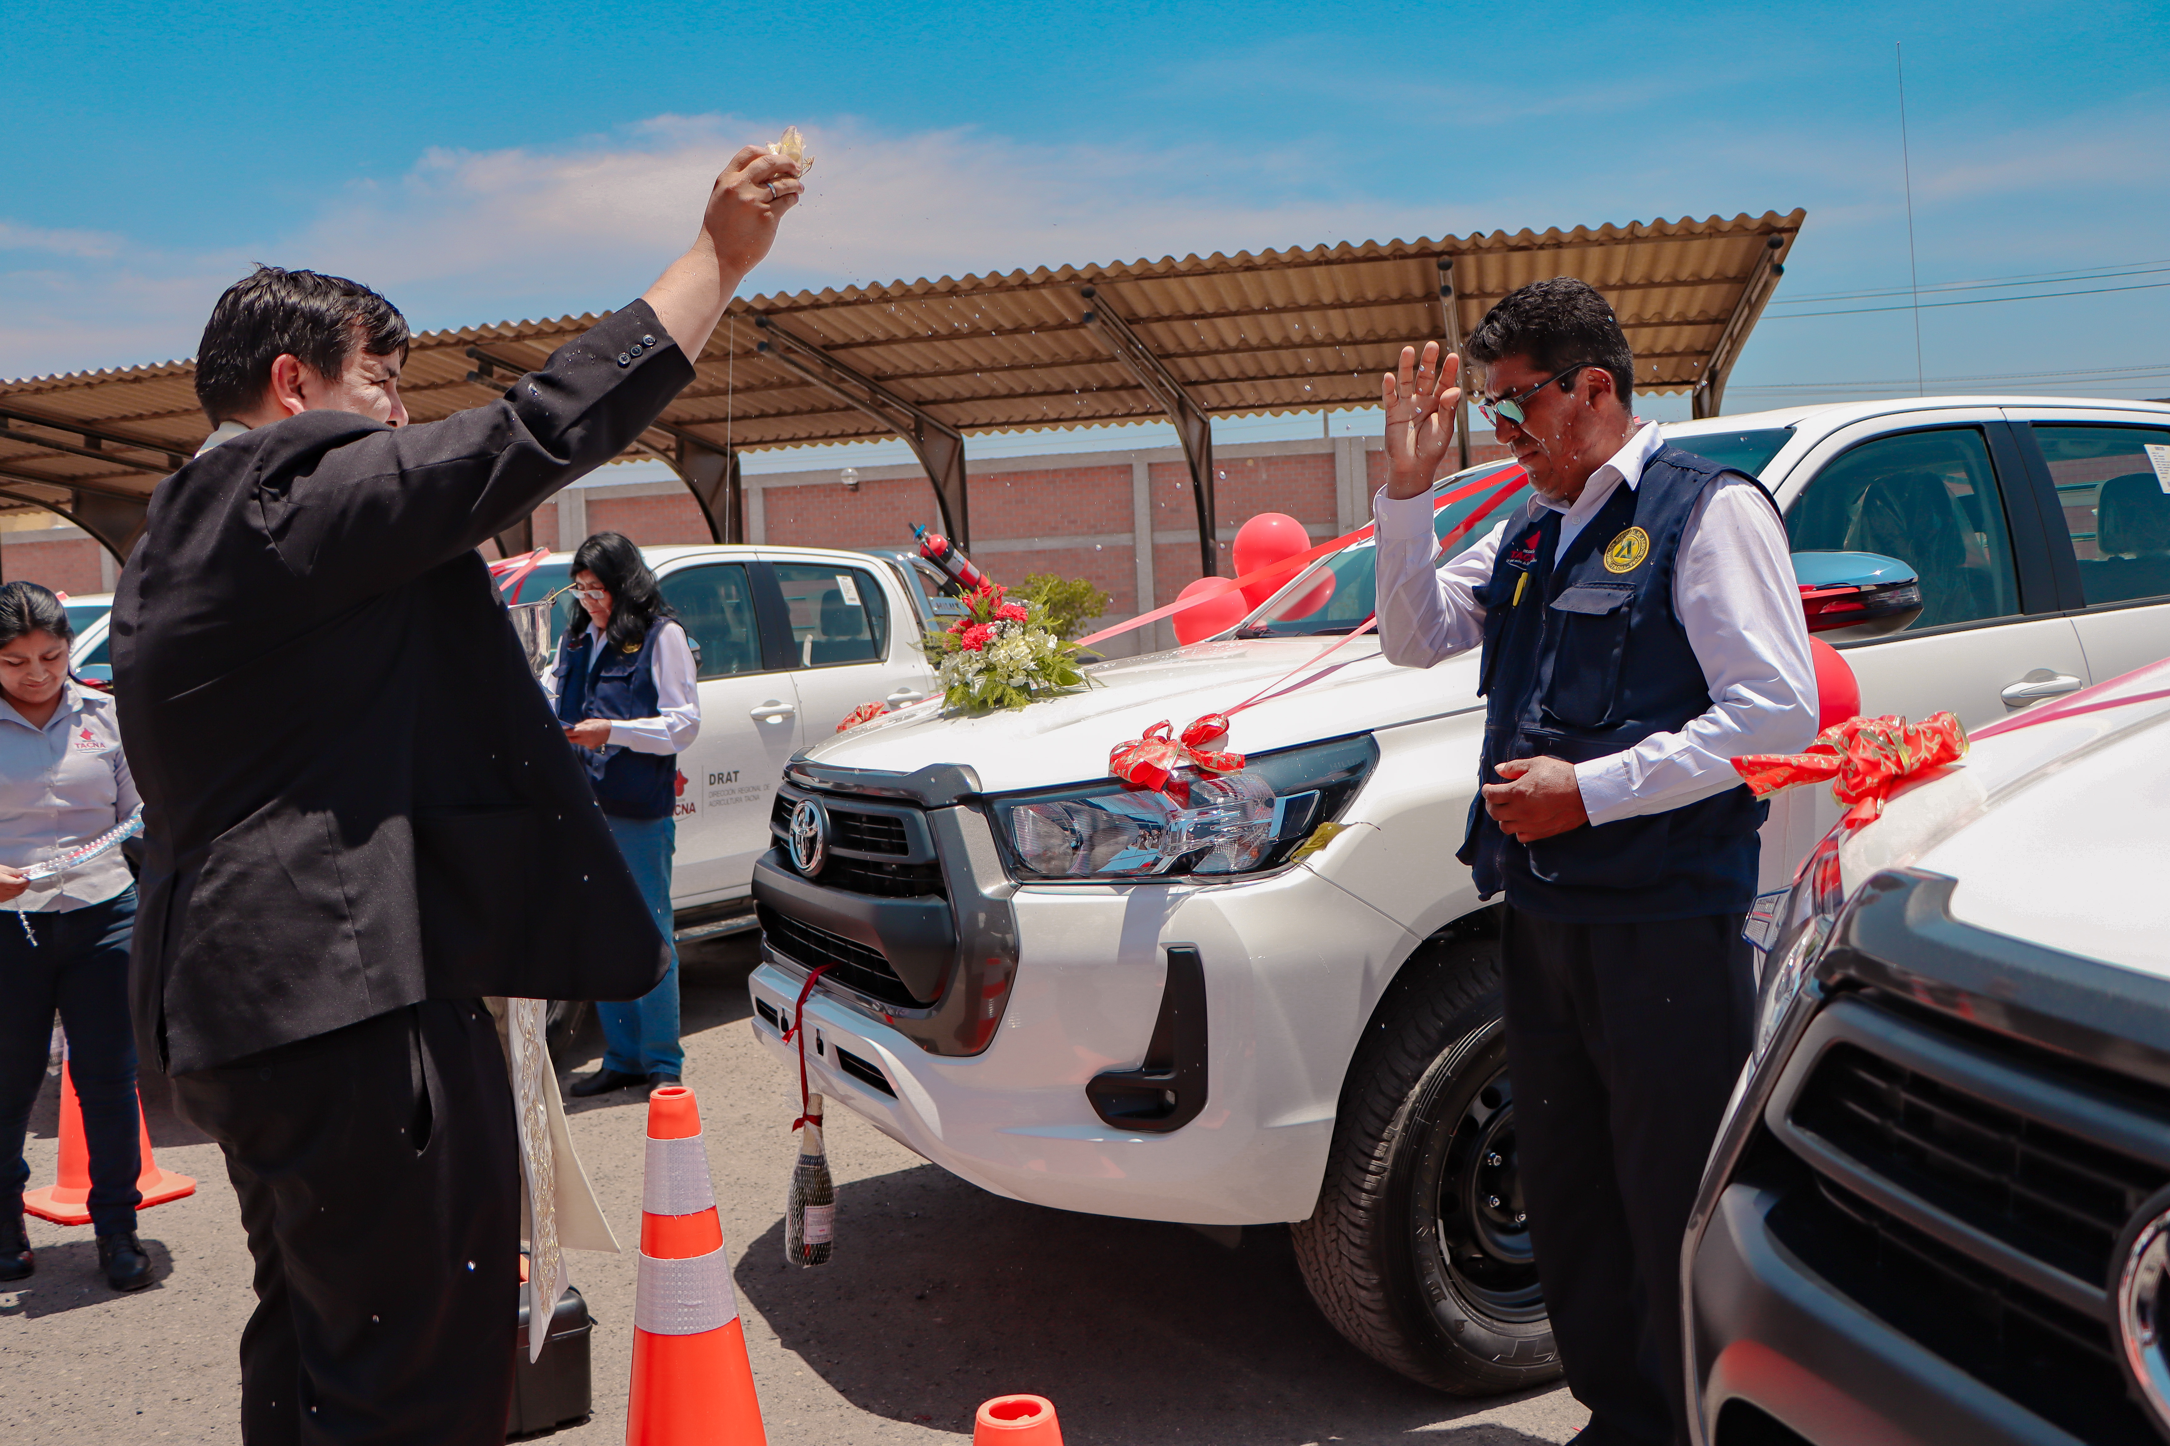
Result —
[[[304, 249], [386, 288], [460, 277], [488, 286], [508, 271], [562, 277], [579, 291], [592, 291], [599, 273], [621, 288], [640, 286], [692, 238], [736, 141], [777, 130], [773, 121], [658, 117], [616, 145], [432, 152], [397, 186], [345, 193], [310, 225]], [[807, 199], [755, 275], [760, 291], [1439, 234], [1454, 219], [1437, 206], [1352, 199], [1328, 184], [1237, 199], [1228, 193], [1239, 186], [1261, 189], [1243, 182], [1285, 186], [1272, 176], [1233, 176], [1237, 163], [1207, 147], [1031, 147], [853, 121], [805, 130], [816, 158]], [[464, 319], [484, 312], [477, 299]]]

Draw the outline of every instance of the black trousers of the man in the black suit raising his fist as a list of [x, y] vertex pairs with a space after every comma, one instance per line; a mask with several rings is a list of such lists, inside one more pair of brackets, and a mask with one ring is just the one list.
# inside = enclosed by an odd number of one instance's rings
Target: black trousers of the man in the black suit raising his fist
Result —
[[427, 999], [174, 1090], [256, 1257], [241, 1439], [503, 1442], [521, 1166], [488, 1010]]

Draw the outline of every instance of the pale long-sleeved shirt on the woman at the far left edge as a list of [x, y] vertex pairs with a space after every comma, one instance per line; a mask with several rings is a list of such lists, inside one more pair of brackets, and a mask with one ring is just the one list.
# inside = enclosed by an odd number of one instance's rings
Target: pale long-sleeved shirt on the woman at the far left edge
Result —
[[[122, 752], [113, 698], [74, 681], [61, 689], [61, 707], [43, 728], [0, 698], [0, 863], [11, 869], [89, 843], [143, 802]], [[37, 880], [0, 911], [65, 913], [102, 904], [130, 882], [128, 861], [115, 848]]]

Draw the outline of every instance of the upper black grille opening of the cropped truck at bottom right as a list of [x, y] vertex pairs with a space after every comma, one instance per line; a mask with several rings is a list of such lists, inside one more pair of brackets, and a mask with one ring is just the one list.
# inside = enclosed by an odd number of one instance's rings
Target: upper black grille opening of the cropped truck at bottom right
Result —
[[1816, 1067], [1792, 1123], [1938, 1210], [2107, 1288], [2109, 1253], [2170, 1171], [1858, 1045]]

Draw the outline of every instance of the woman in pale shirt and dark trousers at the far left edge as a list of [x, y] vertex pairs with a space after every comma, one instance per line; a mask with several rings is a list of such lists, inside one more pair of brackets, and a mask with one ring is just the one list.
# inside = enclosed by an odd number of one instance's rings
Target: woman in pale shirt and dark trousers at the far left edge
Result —
[[126, 824], [139, 802], [113, 698], [67, 674], [74, 635], [52, 592], [0, 585], [0, 1281], [37, 1268], [22, 1227], [30, 1184], [22, 1140], [59, 1010], [91, 1153], [98, 1268], [115, 1290], [141, 1290], [152, 1268], [135, 1234], [143, 1199], [128, 1023], [135, 878], [117, 848], [24, 878], [30, 865]]

